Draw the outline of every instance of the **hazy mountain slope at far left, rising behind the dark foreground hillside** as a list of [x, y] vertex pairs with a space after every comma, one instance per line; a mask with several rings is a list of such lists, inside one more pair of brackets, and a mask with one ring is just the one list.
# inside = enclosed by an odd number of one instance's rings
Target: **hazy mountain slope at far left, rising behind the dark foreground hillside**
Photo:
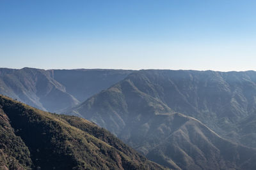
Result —
[[[43, 69], [24, 68], [0, 74], [1, 94], [42, 110], [58, 111], [79, 102]], [[56, 99], [60, 100], [56, 100]]]

